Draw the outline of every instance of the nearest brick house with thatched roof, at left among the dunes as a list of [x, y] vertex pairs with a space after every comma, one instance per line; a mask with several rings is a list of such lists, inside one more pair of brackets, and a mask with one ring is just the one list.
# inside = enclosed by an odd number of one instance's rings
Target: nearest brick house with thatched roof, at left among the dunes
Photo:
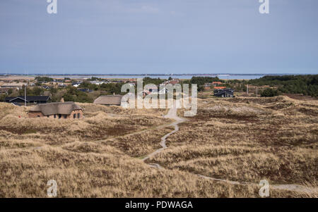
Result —
[[38, 104], [30, 109], [29, 118], [83, 118], [83, 109], [73, 101]]

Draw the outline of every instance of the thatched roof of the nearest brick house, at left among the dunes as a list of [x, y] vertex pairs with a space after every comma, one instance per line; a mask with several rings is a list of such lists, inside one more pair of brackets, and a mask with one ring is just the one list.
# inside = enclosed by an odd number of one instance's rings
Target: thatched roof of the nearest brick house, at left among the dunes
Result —
[[54, 114], [69, 115], [74, 110], [83, 111], [83, 109], [77, 104], [73, 103], [73, 101], [38, 104], [37, 106], [30, 109], [30, 111], [33, 111], [33, 112], [40, 111], [45, 116], [54, 115]]

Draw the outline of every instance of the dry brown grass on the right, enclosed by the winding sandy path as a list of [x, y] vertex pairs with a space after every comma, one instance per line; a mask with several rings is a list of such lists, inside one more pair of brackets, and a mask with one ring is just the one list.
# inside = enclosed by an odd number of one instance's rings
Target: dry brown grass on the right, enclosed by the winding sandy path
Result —
[[149, 162], [240, 182], [317, 179], [317, 101], [204, 99], [200, 106], [197, 116], [167, 139], [170, 149]]

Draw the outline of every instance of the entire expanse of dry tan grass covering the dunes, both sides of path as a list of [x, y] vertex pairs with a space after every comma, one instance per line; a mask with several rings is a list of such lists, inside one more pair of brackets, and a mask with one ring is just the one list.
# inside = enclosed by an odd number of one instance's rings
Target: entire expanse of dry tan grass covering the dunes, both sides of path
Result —
[[146, 163], [141, 158], [174, 129], [162, 117], [167, 110], [81, 106], [82, 120], [53, 120], [29, 119], [28, 108], [0, 104], [0, 197], [47, 197], [51, 179], [57, 180], [58, 197], [259, 197], [263, 179], [317, 185], [317, 101], [199, 99], [197, 116], [179, 124], [168, 148]]

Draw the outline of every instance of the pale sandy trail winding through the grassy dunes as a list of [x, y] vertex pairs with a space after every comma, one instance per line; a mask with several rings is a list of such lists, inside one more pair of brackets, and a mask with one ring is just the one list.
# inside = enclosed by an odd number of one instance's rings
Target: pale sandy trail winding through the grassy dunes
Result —
[[[180, 118], [179, 116], [177, 116], [177, 108], [175, 108], [175, 106], [173, 108], [170, 108], [167, 115], [165, 115], [164, 117], [171, 118], [171, 119], [175, 120], [175, 122], [173, 122], [169, 125], [169, 126], [174, 126], [175, 130], [164, 135], [160, 141], [160, 145], [163, 147], [160, 149], [157, 149], [153, 153], [151, 153], [148, 156], [146, 156], [145, 158], [143, 158], [142, 159], [143, 161], [146, 161], [148, 158], [151, 158], [152, 156], [155, 156], [155, 154], [158, 154], [161, 151], [167, 149], [167, 146], [165, 144], [167, 137], [169, 137], [170, 135], [172, 135], [173, 133], [175, 133], [179, 130], [179, 126], [178, 126], [179, 123], [186, 121], [185, 118]], [[152, 168], [163, 169], [163, 167], [160, 166], [158, 163], [148, 163], [148, 166], [151, 166]], [[252, 182], [237, 182], [237, 181], [231, 181], [231, 180], [218, 179], [218, 178], [214, 178], [214, 177], [208, 177], [208, 176], [204, 176], [204, 175], [197, 175], [197, 176], [202, 177], [204, 179], [208, 179], [208, 180], [227, 182], [227, 183], [230, 183], [232, 185], [254, 185], [254, 186], [256, 185], [256, 186], [259, 186], [258, 184], [252, 183]], [[292, 192], [302, 192], [305, 194], [317, 194], [318, 193], [317, 187], [305, 187], [303, 185], [296, 185], [296, 184], [270, 185], [270, 187], [272, 189], [281, 189], [281, 190], [287, 190], [287, 191], [292, 191]]]

